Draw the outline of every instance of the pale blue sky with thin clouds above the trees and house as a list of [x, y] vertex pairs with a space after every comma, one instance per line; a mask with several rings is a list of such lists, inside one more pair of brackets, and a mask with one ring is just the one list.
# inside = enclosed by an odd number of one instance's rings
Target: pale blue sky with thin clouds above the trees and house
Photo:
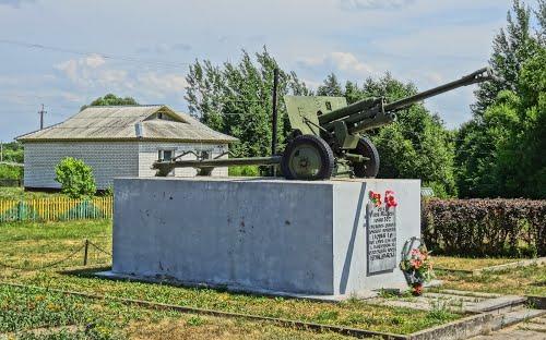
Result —
[[[510, 5], [511, 0], [0, 0], [0, 141], [37, 130], [41, 104], [45, 124], [51, 125], [107, 93], [186, 111], [188, 63], [236, 62], [241, 49], [253, 53], [264, 45], [283, 70], [295, 71], [311, 88], [331, 72], [361, 83], [389, 71], [426, 89], [486, 65]], [[471, 118], [473, 89], [426, 105], [456, 127]]]

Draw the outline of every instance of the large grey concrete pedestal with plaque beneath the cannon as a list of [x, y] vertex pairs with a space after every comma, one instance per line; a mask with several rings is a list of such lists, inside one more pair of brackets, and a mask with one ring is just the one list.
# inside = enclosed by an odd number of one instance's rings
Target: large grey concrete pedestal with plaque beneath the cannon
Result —
[[[114, 189], [107, 277], [342, 300], [405, 287], [402, 246], [420, 235], [418, 180], [127, 178]], [[371, 203], [390, 190], [396, 207]]]

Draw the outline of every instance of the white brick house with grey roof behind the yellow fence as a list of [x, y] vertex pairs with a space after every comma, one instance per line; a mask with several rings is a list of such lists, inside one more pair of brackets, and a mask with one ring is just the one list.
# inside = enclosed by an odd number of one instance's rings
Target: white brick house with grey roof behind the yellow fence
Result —
[[[17, 139], [25, 146], [26, 190], [60, 189], [55, 167], [64, 157], [91, 166], [97, 189], [104, 190], [115, 177], [155, 175], [151, 166], [159, 158], [170, 159], [189, 150], [214, 158], [237, 141], [162, 105], [90, 107]], [[212, 174], [227, 175], [227, 168], [214, 169]], [[195, 170], [175, 169], [173, 175], [191, 177]]]

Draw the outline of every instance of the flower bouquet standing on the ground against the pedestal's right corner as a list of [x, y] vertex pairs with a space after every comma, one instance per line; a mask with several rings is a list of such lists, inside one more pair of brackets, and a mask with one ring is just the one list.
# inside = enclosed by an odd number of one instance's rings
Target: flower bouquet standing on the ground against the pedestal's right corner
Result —
[[[420, 245], [414, 247], [414, 241], [419, 241]], [[430, 252], [417, 238], [410, 239], [404, 245], [400, 268], [406, 277], [407, 284], [412, 287], [412, 293], [417, 296], [423, 293], [423, 283], [430, 282], [435, 277]]]

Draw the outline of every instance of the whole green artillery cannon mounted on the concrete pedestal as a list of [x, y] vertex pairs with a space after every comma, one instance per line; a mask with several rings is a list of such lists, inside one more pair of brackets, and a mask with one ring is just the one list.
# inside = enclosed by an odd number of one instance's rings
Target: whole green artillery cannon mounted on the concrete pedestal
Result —
[[392, 123], [395, 112], [439, 94], [488, 81], [488, 68], [462, 78], [393, 102], [384, 97], [368, 98], [348, 105], [343, 97], [285, 96], [292, 133], [282, 155], [257, 158], [180, 160], [152, 166], [157, 175], [167, 175], [175, 168], [197, 168], [209, 175], [216, 167], [281, 165], [288, 180], [327, 180], [335, 178], [375, 178], [379, 171], [379, 154], [363, 132]]

